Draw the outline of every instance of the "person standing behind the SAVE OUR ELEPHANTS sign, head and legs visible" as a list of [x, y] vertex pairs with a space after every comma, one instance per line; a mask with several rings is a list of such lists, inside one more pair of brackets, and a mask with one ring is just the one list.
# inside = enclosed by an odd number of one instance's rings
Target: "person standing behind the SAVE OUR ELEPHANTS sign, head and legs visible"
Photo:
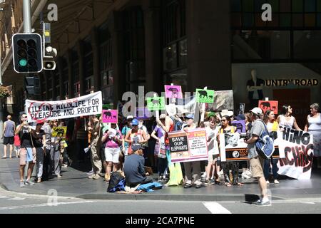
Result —
[[[188, 130], [193, 130], [197, 128], [194, 123], [194, 115], [186, 115], [186, 126], [183, 129], [185, 132]], [[185, 185], [184, 188], [192, 187], [192, 179], [194, 180], [195, 188], [201, 188], [201, 173], [200, 173], [200, 161], [195, 162], [184, 162], [184, 169], [185, 169]], [[193, 170], [193, 172], [192, 172]]]

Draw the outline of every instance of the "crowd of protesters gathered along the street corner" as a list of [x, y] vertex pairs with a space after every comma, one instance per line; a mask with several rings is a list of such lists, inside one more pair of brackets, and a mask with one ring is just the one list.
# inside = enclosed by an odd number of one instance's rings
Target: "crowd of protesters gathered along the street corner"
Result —
[[[279, 184], [277, 175], [277, 160], [263, 160], [255, 151], [254, 142], [267, 127], [272, 133], [282, 128], [293, 128], [311, 133], [314, 137], [314, 155], [317, 157], [317, 167], [320, 167], [321, 155], [321, 115], [320, 106], [315, 103], [310, 106], [310, 115], [304, 128], [297, 125], [295, 117], [292, 116], [290, 105], [283, 105], [281, 114], [275, 118], [277, 113], [268, 110], [265, 114], [260, 108], [253, 108], [249, 113], [215, 113], [206, 112], [205, 121], [195, 123], [192, 113], [183, 115], [161, 115], [157, 120], [136, 119], [129, 115], [123, 119], [119, 118], [118, 124], [102, 123], [98, 115], [89, 118], [88, 124], [81, 126], [81, 120], [75, 118], [68, 121], [67, 138], [52, 137], [55, 126], [65, 125], [63, 120], [41, 121], [36, 123], [36, 128], [31, 128], [27, 123], [27, 115], [21, 115], [20, 124], [15, 126], [8, 116], [4, 123], [4, 158], [6, 157], [7, 145], [9, 145], [10, 157], [14, 149], [20, 157], [20, 185], [34, 185], [31, 174], [36, 165], [36, 182], [49, 180], [52, 177], [61, 177], [61, 165], [67, 165], [71, 160], [66, 153], [67, 142], [76, 142], [69, 152], [78, 153], [78, 160], [84, 160], [86, 153], [83, 148], [88, 144], [90, 153], [87, 157], [91, 160], [91, 172], [88, 177], [93, 180], [104, 178], [109, 182], [113, 172], [121, 172], [122, 175], [131, 176], [132, 184], [146, 179], [133, 177], [128, 174], [133, 170], [133, 162], [144, 167], [152, 167], [158, 172], [156, 180], [164, 182], [168, 186], [183, 185], [184, 188], [195, 186], [197, 189], [204, 185], [220, 185], [223, 175], [223, 185], [243, 186], [239, 178], [258, 178], [262, 197], [258, 204], [267, 204], [266, 185], [270, 181]], [[249, 162], [220, 162], [220, 134], [225, 134], [225, 141], [229, 133], [235, 133], [236, 128], [232, 125], [233, 120], [245, 120], [246, 135], [245, 143], [248, 144]], [[168, 133], [184, 130], [188, 132], [195, 128], [205, 128], [208, 138], [208, 161], [207, 162], [170, 162], [170, 150]], [[71, 132], [70, 132], [71, 130]], [[273, 135], [273, 134], [271, 134]], [[88, 139], [88, 141], [86, 141]], [[88, 142], [88, 143], [87, 143]], [[141, 145], [137, 147], [137, 144]], [[75, 147], [76, 146], [76, 147]], [[90, 155], [90, 156], [88, 156]], [[136, 159], [128, 160], [129, 156], [135, 155]], [[143, 157], [143, 160], [139, 157]], [[26, 180], [24, 180], [24, 169], [28, 164]], [[126, 167], [127, 164], [127, 167]], [[242, 169], [243, 173], [239, 174]], [[202, 175], [201, 171], [204, 174]], [[271, 172], [272, 171], [272, 172]], [[272, 173], [272, 178], [270, 178]], [[141, 171], [142, 177], [146, 172]], [[150, 181], [151, 178], [148, 178]], [[131, 185], [132, 185], [131, 184]]]

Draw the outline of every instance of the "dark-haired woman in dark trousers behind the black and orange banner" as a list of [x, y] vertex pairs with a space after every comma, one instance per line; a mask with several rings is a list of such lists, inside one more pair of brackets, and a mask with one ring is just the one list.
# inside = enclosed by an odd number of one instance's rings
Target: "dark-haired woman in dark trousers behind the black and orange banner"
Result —
[[[236, 128], [232, 125], [231, 118], [228, 115], [224, 115], [220, 121], [222, 122], [222, 126], [220, 127], [219, 133], [225, 134], [225, 142], [227, 142], [228, 138], [230, 137], [229, 133], [236, 133]], [[232, 171], [233, 177], [232, 184], [243, 186], [242, 183], [238, 182], [239, 162], [222, 162], [221, 166], [224, 173], [224, 182], [227, 187], [232, 186], [230, 180], [230, 170]]]

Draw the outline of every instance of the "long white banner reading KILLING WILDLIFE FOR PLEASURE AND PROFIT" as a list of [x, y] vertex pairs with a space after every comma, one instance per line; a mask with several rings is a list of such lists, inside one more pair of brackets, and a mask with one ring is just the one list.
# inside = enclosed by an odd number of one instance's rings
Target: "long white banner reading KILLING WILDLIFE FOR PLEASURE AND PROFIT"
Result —
[[101, 91], [69, 100], [26, 100], [26, 114], [28, 122], [98, 115], [102, 112], [102, 100]]

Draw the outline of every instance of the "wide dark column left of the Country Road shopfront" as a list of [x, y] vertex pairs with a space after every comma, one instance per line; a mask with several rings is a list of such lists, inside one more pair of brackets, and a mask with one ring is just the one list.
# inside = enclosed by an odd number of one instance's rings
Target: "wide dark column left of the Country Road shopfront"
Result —
[[232, 89], [230, 1], [186, 0], [188, 90]]

